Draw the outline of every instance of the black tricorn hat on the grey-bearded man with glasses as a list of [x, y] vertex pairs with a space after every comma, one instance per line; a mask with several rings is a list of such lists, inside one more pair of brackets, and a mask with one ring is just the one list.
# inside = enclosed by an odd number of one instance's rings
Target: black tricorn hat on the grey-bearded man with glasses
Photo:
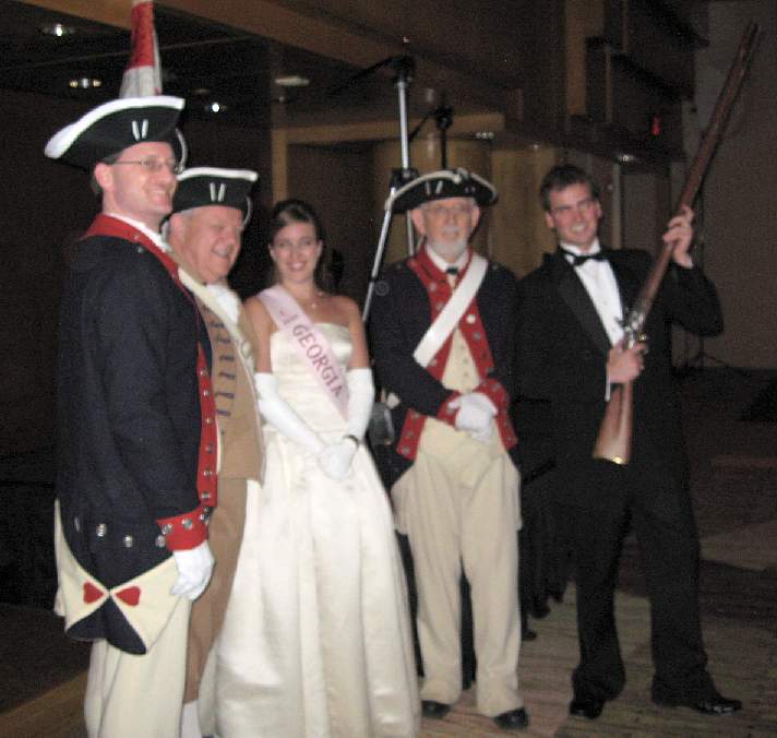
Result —
[[497, 202], [497, 190], [482, 177], [458, 167], [421, 175], [401, 187], [388, 200], [385, 210], [405, 213], [430, 200], [473, 198], [480, 206]]

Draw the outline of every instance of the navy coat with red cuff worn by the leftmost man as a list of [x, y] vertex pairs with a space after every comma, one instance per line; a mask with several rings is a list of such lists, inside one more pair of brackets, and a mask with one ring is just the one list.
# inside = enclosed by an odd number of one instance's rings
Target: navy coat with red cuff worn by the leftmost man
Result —
[[[59, 328], [62, 529], [79, 564], [110, 588], [205, 537], [198, 319], [140, 237], [95, 235], [79, 243]], [[110, 597], [69, 634], [144, 652]]]

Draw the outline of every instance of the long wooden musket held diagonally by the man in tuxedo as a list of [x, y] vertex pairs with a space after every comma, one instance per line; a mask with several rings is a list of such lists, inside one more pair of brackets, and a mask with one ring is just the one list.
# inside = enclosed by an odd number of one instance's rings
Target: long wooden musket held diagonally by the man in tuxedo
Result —
[[[758, 36], [758, 25], [753, 21], [742, 34], [737, 49], [737, 56], [729, 70], [726, 83], [715, 104], [715, 109], [709, 119], [709, 126], [698, 146], [696, 156], [691, 165], [685, 184], [680, 194], [677, 213], [681, 213], [683, 205], [689, 207], [696, 198], [698, 188], [704, 180], [709, 162], [728, 122], [728, 117], [737, 99], [748, 67], [753, 58], [755, 43]], [[639, 289], [634, 305], [626, 313], [623, 321], [623, 347], [631, 348], [642, 337], [645, 322], [653, 307], [653, 300], [667, 273], [669, 261], [672, 257], [677, 241], [665, 243], [653, 264], [653, 267]], [[605, 459], [615, 464], [627, 464], [631, 459], [632, 432], [634, 426], [633, 384], [624, 382], [612, 388], [610, 400], [607, 403], [605, 417], [599, 426], [599, 435], [594, 445], [594, 459]]]

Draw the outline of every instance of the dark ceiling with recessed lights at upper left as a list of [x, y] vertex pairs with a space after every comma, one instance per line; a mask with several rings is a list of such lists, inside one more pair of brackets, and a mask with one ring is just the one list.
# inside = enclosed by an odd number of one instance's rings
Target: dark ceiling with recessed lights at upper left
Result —
[[[0, 87], [89, 105], [118, 95], [130, 53], [128, 31], [13, 0], [0, 0]], [[55, 23], [73, 33], [47, 35], [43, 28]], [[187, 98], [189, 116], [218, 115], [223, 122], [261, 127], [270, 124], [273, 112], [291, 126], [396, 116], [390, 67], [348, 84], [362, 70], [158, 7], [155, 23], [164, 93]], [[307, 78], [310, 84], [280, 87], [274, 80], [283, 75]], [[82, 79], [100, 85], [71, 86]], [[410, 94], [408, 111], [420, 117], [428, 104], [419, 97]], [[220, 104], [220, 112], [213, 112], [213, 103]]]

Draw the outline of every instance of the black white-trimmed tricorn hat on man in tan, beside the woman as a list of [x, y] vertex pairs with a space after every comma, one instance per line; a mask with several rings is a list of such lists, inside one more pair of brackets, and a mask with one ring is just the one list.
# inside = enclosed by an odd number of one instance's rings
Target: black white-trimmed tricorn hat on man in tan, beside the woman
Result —
[[242, 211], [243, 223], [251, 217], [249, 192], [259, 175], [251, 169], [193, 167], [178, 175], [178, 188], [172, 199], [172, 212], [192, 207], [224, 205]]

